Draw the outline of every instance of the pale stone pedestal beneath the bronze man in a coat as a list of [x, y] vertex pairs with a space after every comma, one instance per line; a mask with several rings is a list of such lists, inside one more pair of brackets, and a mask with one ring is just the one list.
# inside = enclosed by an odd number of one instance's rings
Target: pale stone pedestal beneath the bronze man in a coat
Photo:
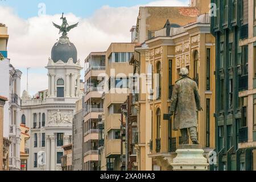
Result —
[[174, 171], [207, 171], [209, 164], [198, 144], [183, 144], [176, 150], [177, 156], [171, 166]]

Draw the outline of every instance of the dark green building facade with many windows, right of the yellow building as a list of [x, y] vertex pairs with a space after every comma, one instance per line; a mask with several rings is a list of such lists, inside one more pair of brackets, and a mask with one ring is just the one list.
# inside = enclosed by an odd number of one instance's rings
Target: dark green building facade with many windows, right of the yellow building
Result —
[[248, 36], [248, 0], [212, 0], [211, 32], [216, 38], [216, 152], [219, 171], [251, 170], [251, 151], [239, 149], [246, 142], [248, 48], [239, 46]]

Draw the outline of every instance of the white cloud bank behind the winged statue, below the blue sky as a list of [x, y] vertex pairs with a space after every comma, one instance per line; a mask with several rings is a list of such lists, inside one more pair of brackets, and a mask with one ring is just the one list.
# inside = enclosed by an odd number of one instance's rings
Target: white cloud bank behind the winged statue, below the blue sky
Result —
[[[187, 6], [187, 2], [162, 0], [133, 7], [102, 6], [89, 18], [79, 18], [66, 14], [69, 24], [79, 22], [79, 26], [69, 32], [68, 36], [77, 48], [82, 61], [92, 51], [106, 51], [111, 42], [130, 42], [130, 28], [137, 21], [139, 6]], [[51, 57], [51, 48], [59, 38], [58, 30], [52, 21], [61, 24], [60, 14], [35, 16], [27, 20], [19, 18], [10, 7], [0, 6], [0, 19], [8, 26], [8, 51], [11, 63], [20, 68], [42, 68]], [[4, 17], [4, 18], [3, 18]], [[26, 88], [26, 74], [23, 73], [22, 88]], [[45, 74], [31, 75], [32, 92], [47, 88]], [[38, 84], [38, 80], [40, 84]], [[42, 84], [44, 87], [42, 88]]]

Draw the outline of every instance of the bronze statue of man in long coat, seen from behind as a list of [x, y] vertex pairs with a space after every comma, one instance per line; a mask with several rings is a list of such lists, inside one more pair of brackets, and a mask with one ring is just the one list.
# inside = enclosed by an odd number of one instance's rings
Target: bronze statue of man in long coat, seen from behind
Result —
[[203, 110], [197, 84], [188, 77], [188, 69], [181, 68], [181, 78], [172, 91], [170, 114], [174, 114], [173, 130], [180, 129], [183, 144], [188, 144], [188, 131], [193, 144], [197, 140], [197, 111]]

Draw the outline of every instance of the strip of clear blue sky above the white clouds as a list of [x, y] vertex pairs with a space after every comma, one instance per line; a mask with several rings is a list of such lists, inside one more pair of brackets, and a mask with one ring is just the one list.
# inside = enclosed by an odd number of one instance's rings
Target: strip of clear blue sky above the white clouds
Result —
[[[181, 0], [181, 2], [187, 0]], [[111, 7], [121, 7], [121, 6], [135, 6], [138, 4], [146, 4], [149, 2], [154, 2], [154, 0], [75, 0], [75, 1], [63, 1], [63, 0], [0, 0], [0, 5], [13, 7], [15, 13], [17, 13], [20, 18], [30, 18], [38, 14], [39, 3], [44, 3], [46, 5], [46, 13], [48, 15], [54, 15], [56, 13], [64, 12], [73, 13], [81, 18], [86, 18], [94, 13], [95, 10], [100, 9], [104, 5]]]

